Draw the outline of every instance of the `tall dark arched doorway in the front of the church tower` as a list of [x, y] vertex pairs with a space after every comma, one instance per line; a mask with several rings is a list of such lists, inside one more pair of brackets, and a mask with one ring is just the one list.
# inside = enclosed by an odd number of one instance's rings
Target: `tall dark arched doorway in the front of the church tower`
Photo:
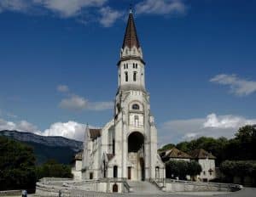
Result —
[[[131, 180], [145, 179], [144, 136], [141, 132], [131, 132], [128, 137], [128, 160], [133, 164]], [[128, 169], [129, 170], [129, 169]]]

